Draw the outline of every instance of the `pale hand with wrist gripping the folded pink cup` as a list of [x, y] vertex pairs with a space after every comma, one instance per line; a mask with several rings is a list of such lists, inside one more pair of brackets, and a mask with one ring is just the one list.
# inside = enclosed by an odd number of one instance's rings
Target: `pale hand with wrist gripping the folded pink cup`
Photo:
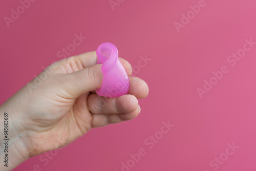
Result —
[[[0, 170], [11, 170], [30, 157], [63, 147], [93, 127], [131, 120], [140, 113], [139, 98], [148, 95], [145, 81], [131, 77], [129, 62], [119, 58], [130, 79], [127, 95], [105, 98], [95, 93], [101, 87], [101, 65], [96, 52], [62, 59], [0, 106], [0, 124], [8, 113], [9, 163]], [[37, 77], [38, 77], [37, 76]], [[43, 78], [43, 77], [42, 77]], [[0, 133], [4, 137], [3, 131]], [[3, 143], [0, 155], [4, 156]]]

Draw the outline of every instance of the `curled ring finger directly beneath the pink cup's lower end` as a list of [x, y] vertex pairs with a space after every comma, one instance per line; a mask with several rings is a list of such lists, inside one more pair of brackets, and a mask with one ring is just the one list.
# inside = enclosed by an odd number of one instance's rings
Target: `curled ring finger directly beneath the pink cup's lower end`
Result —
[[88, 107], [93, 114], [131, 113], [138, 108], [138, 100], [133, 95], [105, 98], [97, 94], [88, 97]]

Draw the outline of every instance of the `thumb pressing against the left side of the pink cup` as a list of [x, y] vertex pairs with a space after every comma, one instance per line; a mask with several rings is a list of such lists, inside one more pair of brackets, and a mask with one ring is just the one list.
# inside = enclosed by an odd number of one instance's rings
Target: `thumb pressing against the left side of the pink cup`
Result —
[[102, 84], [102, 64], [97, 64], [82, 70], [66, 74], [63, 89], [71, 96], [77, 98], [84, 93], [99, 89]]

